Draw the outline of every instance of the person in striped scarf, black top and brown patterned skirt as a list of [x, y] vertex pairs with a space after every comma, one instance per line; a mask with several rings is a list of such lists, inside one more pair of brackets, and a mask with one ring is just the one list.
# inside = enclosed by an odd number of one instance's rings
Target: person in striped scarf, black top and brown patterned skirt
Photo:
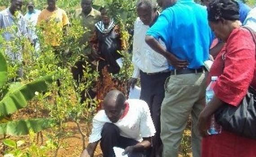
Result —
[[100, 100], [98, 109], [102, 109], [103, 99], [111, 90], [126, 93], [124, 81], [115, 77], [122, 66], [122, 55], [119, 53], [124, 48], [119, 26], [108, 13], [109, 9], [101, 8], [101, 21], [95, 24], [95, 31], [90, 39], [93, 52], [92, 57], [98, 61], [99, 78], [97, 80], [97, 100]]

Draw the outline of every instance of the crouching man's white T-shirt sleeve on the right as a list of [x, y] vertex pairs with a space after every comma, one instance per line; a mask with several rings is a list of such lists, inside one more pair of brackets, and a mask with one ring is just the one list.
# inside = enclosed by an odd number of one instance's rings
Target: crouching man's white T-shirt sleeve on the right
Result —
[[141, 112], [141, 125], [140, 125], [140, 132], [141, 137], [152, 137], [155, 134], [155, 128], [154, 123], [150, 115], [150, 109], [147, 105], [147, 103], [144, 101], [143, 104], [141, 104], [142, 112]]

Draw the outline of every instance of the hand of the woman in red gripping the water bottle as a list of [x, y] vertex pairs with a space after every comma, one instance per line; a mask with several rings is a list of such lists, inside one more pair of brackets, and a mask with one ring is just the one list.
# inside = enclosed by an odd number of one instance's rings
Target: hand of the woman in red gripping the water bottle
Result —
[[199, 114], [197, 125], [199, 132], [203, 137], [207, 135], [208, 123], [210, 118], [211, 115], [205, 114], [204, 110]]

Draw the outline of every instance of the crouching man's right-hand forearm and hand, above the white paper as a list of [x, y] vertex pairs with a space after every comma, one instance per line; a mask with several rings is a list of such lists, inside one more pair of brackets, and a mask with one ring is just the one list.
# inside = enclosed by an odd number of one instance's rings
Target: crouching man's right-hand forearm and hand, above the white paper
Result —
[[125, 148], [125, 151], [123, 154], [144, 151], [149, 149], [150, 147], [151, 147], [151, 137], [146, 137], [146, 138], [143, 138], [142, 142], [139, 142], [136, 145], [128, 146], [127, 148]]

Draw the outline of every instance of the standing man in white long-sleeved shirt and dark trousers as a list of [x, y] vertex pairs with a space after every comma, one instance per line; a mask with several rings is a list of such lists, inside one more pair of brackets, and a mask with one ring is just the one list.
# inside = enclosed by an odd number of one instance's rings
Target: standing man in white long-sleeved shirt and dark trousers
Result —
[[[137, 2], [138, 18], [134, 24], [133, 76], [128, 82], [128, 87], [137, 83], [141, 78], [141, 100], [149, 105], [150, 113], [156, 129], [152, 137], [152, 152], [150, 157], [161, 157], [162, 140], [160, 138], [160, 112], [164, 98], [164, 83], [170, 76], [168, 61], [161, 54], [154, 52], [145, 42], [147, 30], [158, 18], [156, 3], [151, 0], [139, 0]], [[161, 41], [163, 46], [164, 43]]]

